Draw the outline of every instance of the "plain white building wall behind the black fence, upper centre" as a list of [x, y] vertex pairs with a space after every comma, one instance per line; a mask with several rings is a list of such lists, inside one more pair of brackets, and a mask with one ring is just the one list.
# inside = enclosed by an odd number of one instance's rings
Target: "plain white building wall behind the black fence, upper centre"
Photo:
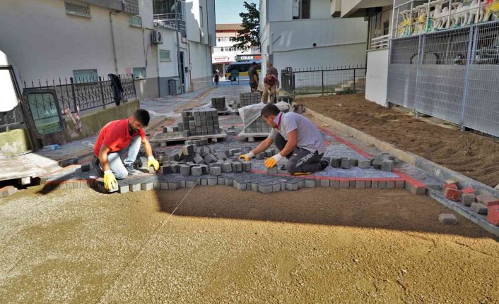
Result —
[[367, 23], [331, 17], [329, 0], [261, 0], [262, 72], [365, 64]]

